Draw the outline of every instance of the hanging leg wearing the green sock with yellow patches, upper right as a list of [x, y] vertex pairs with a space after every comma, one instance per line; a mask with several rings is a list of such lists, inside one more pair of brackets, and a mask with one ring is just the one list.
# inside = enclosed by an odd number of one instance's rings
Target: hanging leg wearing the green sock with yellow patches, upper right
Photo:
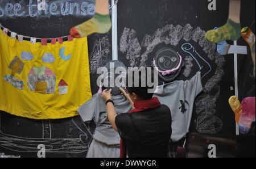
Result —
[[230, 0], [228, 22], [218, 28], [208, 31], [205, 39], [211, 43], [224, 40], [238, 40], [241, 37], [240, 10], [241, 0]]

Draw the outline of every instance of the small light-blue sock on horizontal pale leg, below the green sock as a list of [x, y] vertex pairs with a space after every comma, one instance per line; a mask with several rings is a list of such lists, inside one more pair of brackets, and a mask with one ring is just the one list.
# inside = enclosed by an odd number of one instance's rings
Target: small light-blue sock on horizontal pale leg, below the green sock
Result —
[[227, 54], [247, 54], [247, 47], [245, 46], [234, 46], [228, 44], [226, 41], [217, 43], [217, 52], [221, 55]]

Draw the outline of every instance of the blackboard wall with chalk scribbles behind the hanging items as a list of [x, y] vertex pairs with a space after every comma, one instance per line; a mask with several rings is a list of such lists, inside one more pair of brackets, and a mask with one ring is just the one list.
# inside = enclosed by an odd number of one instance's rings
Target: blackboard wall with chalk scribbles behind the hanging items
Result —
[[[1, 1], [0, 6], [6, 2]], [[48, 3], [57, 1], [47, 1]], [[61, 1], [77, 2], [82, 1]], [[94, 1], [83, 1], [88, 4]], [[28, 2], [26, 2], [28, 4]], [[203, 78], [204, 92], [195, 100], [191, 130], [199, 133], [225, 134], [234, 136], [236, 125], [228, 99], [234, 95], [233, 55], [225, 57], [216, 53], [216, 46], [203, 40], [204, 31], [220, 27], [228, 17], [228, 1], [217, 0], [217, 11], [208, 10], [207, 0], [123, 0], [118, 2], [118, 58], [126, 66], [150, 66], [154, 54], [161, 48], [175, 48], [185, 64], [192, 64], [192, 70], [184, 66], [178, 80], [195, 75], [199, 66], [182, 45], [189, 43], [203, 60], [198, 60], [206, 74]], [[254, 12], [254, 15], [252, 13]], [[1, 13], [0, 13], [1, 14]], [[0, 18], [0, 23], [20, 35], [32, 37], [60, 37], [68, 35], [69, 29], [84, 22], [92, 15], [58, 15], [31, 18]], [[255, 1], [242, 2], [242, 26], [251, 26], [255, 32]], [[170, 33], [171, 32], [171, 33]], [[112, 32], [107, 35], [88, 37], [91, 86], [97, 92], [97, 67], [112, 58]], [[232, 42], [230, 42], [232, 43]], [[239, 45], [246, 45], [240, 39]], [[151, 47], [151, 48], [147, 48]], [[99, 50], [101, 49], [101, 53]], [[248, 49], [250, 52], [250, 50]], [[146, 57], [145, 57], [146, 56]], [[197, 57], [200, 58], [200, 57]], [[240, 99], [255, 96], [255, 78], [251, 77], [251, 57], [238, 56]], [[211, 71], [209, 71], [210, 64]], [[209, 73], [208, 73], [209, 71]], [[160, 82], [161, 83], [161, 82]], [[37, 157], [37, 146], [47, 147], [47, 157], [85, 157], [94, 124], [83, 123], [80, 117], [61, 120], [31, 120], [0, 114], [0, 153]]]

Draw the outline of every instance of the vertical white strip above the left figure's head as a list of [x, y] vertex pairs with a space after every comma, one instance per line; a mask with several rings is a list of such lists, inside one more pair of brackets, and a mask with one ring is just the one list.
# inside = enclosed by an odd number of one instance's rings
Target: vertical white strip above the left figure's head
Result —
[[118, 43], [117, 43], [117, 3], [112, 0], [112, 60], [118, 60]]

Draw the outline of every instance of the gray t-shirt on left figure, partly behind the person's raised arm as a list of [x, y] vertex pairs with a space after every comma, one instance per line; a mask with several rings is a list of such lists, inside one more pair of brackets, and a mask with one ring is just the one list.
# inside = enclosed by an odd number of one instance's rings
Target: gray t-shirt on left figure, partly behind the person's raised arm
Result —
[[[129, 100], [122, 95], [112, 96], [117, 114], [127, 113], [131, 110]], [[83, 121], [93, 120], [96, 123], [96, 130], [93, 138], [107, 145], [119, 145], [120, 136], [118, 132], [112, 128], [107, 113], [106, 104], [100, 94], [93, 95], [93, 98], [82, 105], [77, 112]]]

